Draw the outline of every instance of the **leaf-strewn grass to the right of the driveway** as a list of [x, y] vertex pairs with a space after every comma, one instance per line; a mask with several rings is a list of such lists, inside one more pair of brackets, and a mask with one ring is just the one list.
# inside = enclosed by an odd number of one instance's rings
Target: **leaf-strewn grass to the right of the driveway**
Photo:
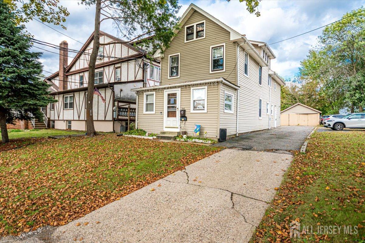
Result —
[[[295, 155], [251, 242], [364, 243], [364, 148], [364, 132], [314, 133], [307, 153]], [[296, 240], [289, 236], [295, 220], [307, 231]], [[326, 226], [340, 228], [331, 234]], [[353, 234], [344, 234], [349, 227]]]

